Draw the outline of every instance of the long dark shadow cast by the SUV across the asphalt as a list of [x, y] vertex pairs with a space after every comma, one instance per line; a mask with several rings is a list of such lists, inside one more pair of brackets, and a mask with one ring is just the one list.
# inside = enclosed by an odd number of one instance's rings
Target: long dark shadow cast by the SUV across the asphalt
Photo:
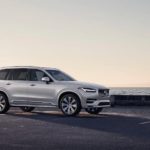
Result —
[[100, 114], [89, 115], [81, 113], [76, 117], [66, 117], [59, 112], [42, 112], [36, 111], [32, 113], [23, 112], [8, 112], [8, 115], [13, 117], [21, 117], [47, 123], [57, 123], [70, 127], [79, 127], [92, 129], [96, 131], [111, 132], [121, 136], [148, 140], [150, 139], [150, 124], [141, 124], [142, 122], [150, 121], [141, 117], [121, 116], [120, 114]]

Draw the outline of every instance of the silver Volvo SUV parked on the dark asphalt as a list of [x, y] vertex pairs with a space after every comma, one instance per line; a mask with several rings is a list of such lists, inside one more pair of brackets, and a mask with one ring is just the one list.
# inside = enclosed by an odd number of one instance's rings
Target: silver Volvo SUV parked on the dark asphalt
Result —
[[0, 69], [0, 113], [6, 113], [10, 107], [20, 107], [25, 112], [35, 107], [58, 107], [65, 115], [73, 116], [82, 108], [98, 114], [109, 106], [109, 89], [78, 82], [58, 69]]

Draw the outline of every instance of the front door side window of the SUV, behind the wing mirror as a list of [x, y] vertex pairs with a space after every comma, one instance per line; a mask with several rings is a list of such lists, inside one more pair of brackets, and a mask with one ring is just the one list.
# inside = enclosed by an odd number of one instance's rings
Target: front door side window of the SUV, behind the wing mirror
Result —
[[48, 77], [43, 71], [41, 70], [30, 70], [30, 81], [41, 81], [43, 77]]

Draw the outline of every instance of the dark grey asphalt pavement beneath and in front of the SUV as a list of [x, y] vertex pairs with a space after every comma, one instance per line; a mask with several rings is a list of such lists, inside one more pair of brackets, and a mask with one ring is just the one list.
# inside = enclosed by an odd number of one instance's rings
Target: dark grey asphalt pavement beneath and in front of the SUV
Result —
[[51, 109], [0, 115], [0, 150], [150, 150], [150, 107], [65, 117]]

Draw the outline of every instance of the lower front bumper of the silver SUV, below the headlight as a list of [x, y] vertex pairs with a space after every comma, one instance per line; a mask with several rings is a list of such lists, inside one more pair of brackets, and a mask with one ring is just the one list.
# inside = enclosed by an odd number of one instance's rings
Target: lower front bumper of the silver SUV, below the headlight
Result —
[[93, 103], [87, 103], [87, 107], [94, 107], [94, 108], [105, 108], [110, 107], [111, 102], [110, 100], [96, 100]]

